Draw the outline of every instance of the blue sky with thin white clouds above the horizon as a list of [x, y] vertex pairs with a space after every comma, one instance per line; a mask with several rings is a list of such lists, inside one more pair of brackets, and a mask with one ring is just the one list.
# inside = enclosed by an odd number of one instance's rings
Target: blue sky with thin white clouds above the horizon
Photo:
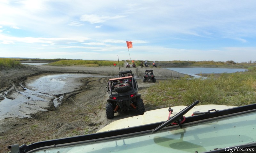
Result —
[[255, 6], [255, 0], [1, 0], [0, 57], [254, 62]]

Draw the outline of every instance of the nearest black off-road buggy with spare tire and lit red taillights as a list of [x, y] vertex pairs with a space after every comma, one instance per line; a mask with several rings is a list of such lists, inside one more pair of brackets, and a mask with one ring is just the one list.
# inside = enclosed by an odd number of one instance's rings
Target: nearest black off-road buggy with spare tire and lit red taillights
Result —
[[138, 93], [138, 84], [132, 71], [120, 72], [119, 76], [108, 81], [107, 118], [112, 119], [114, 113], [131, 109], [137, 110], [140, 115], [143, 114], [145, 112], [144, 103]]

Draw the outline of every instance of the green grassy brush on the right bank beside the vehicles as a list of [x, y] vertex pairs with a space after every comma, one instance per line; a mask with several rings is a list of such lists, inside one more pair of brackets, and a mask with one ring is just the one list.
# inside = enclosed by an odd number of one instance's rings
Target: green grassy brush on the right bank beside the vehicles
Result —
[[143, 95], [145, 105], [188, 106], [195, 100], [200, 105], [242, 106], [256, 103], [256, 67], [246, 72], [211, 75], [207, 79], [184, 77], [159, 81]]

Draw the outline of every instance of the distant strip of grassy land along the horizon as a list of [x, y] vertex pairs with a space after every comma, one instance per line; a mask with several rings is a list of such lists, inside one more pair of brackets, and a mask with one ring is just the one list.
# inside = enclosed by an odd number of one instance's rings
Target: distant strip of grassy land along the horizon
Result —
[[[6, 64], [4, 67], [15, 67], [15, 65], [19, 65], [19, 62], [49, 62], [49, 65], [54, 66], [113, 66], [114, 63], [118, 66], [118, 61], [107, 61], [107, 60], [72, 60], [72, 59], [28, 59], [28, 58], [0, 58], [1, 61], [17, 61], [15, 64]], [[126, 62], [129, 62], [132, 64], [131, 60], [122, 60], [119, 61], [120, 67], [123, 67]], [[140, 67], [141, 60], [134, 60], [133, 61], [136, 65], [136, 67]], [[145, 61], [143, 61], [145, 62]], [[3, 63], [3, 62], [2, 62]], [[5, 63], [5, 62], [4, 62]], [[241, 68], [241, 69], [247, 69], [252, 66], [256, 66], [255, 62], [242, 62], [242, 63], [236, 63], [234, 61], [226, 61], [226, 62], [215, 62], [215, 61], [154, 61], [154, 63], [157, 65], [158, 68], [176, 68], [176, 67], [212, 67], [212, 68]], [[1, 63], [0, 63], [1, 64]], [[147, 64], [152, 68], [153, 61], [147, 61]], [[3, 64], [0, 65], [3, 67]]]

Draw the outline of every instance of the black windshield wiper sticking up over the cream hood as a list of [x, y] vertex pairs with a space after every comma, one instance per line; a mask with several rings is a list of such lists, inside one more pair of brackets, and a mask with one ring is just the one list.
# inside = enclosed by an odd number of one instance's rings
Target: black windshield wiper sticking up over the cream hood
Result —
[[[179, 121], [181, 117], [183, 117], [190, 109], [192, 109], [194, 106], [196, 106], [199, 103], [199, 100], [196, 100], [194, 103], [190, 104], [188, 107], [184, 108], [182, 111], [174, 115], [170, 120], [165, 121], [158, 127], [156, 127], [154, 130], [152, 130], [153, 133], [157, 132], [158, 130], [172, 124], [173, 122]], [[179, 124], [179, 123], [178, 123]]]

